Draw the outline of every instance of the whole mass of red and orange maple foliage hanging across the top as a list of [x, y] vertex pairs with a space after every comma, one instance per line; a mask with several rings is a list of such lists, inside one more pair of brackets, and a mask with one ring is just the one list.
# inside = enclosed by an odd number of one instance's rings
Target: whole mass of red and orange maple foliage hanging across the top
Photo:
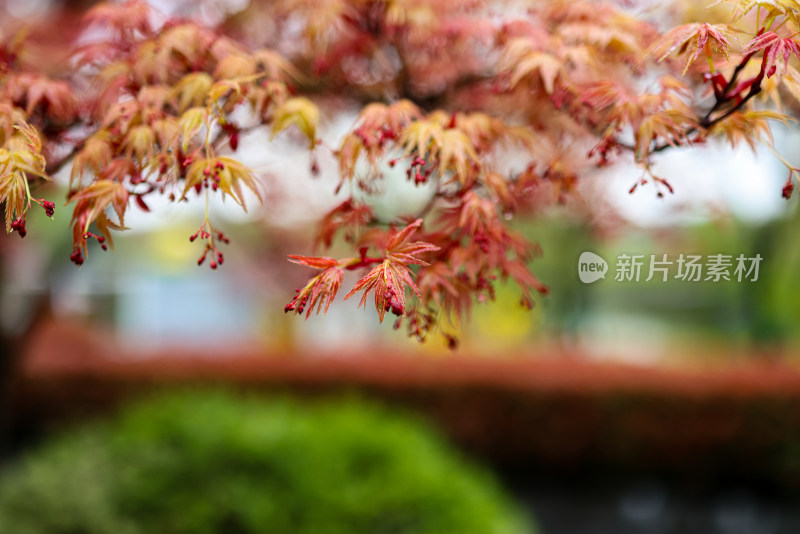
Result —
[[[711, 137], [770, 144], [770, 121], [798, 108], [800, 5], [727, 5], [727, 24], [668, 28], [591, 1], [522, 11], [481, 0], [278, 0], [212, 28], [135, 0], [99, 4], [60, 68], [26, 60], [35, 43], [0, 39], [6, 229], [24, 235], [32, 203], [53, 214], [30, 185], [65, 166], [77, 264], [153, 195], [206, 205], [221, 195], [246, 209], [262, 186], [236, 157], [240, 137], [293, 129], [309, 161], [320, 150], [335, 157], [346, 197], [321, 217], [316, 245], [352, 253], [290, 256], [318, 272], [287, 312], [327, 311], [346, 272], [361, 277], [345, 299], [371, 298], [381, 321], [391, 313], [419, 339], [493, 299], [500, 280], [531, 307], [547, 293], [530, 269], [538, 247], [509, 221], [570, 202], [582, 175], [626, 156], [642, 169], [631, 192], [649, 183], [671, 193], [651, 172], [658, 153]], [[331, 147], [318, 128], [332, 100], [360, 113]], [[800, 170], [776, 156], [788, 198]], [[429, 202], [379, 217], [361, 193], [379, 189], [387, 168], [430, 187]], [[190, 241], [203, 247], [198, 264], [223, 264], [228, 238], [208, 209]]]

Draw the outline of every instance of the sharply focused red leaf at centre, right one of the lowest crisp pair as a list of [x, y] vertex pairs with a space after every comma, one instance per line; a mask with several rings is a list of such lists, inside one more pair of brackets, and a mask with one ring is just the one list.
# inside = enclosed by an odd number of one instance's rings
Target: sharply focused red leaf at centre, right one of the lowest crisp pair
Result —
[[417, 219], [394, 234], [386, 243], [386, 259], [359, 280], [352, 291], [344, 297], [345, 300], [359, 291], [364, 291], [358, 305], [366, 306], [370, 291], [374, 291], [375, 308], [380, 322], [383, 322], [387, 311], [402, 316], [406, 311], [405, 286], [411, 288], [417, 298], [420, 298], [419, 289], [411, 278], [411, 269], [408, 265], [428, 265], [416, 256], [439, 249], [436, 245], [423, 241], [409, 242], [421, 225], [422, 219]]

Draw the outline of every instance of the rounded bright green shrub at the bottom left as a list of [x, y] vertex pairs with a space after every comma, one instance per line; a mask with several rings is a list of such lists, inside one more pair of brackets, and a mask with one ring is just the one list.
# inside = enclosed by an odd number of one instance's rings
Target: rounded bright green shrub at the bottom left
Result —
[[4, 473], [14, 534], [518, 534], [533, 529], [425, 425], [357, 400], [157, 396]]

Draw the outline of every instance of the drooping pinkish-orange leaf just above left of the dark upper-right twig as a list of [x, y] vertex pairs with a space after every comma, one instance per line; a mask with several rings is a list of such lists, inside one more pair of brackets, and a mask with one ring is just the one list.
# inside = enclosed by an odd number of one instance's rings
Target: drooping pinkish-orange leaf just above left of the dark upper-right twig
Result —
[[728, 57], [731, 41], [737, 41], [736, 35], [726, 25], [695, 22], [683, 24], [667, 32], [648, 52], [657, 54], [658, 61], [664, 61], [672, 53], [676, 56], [686, 55], [683, 74], [689, 66], [700, 57], [707, 47], [722, 52]]

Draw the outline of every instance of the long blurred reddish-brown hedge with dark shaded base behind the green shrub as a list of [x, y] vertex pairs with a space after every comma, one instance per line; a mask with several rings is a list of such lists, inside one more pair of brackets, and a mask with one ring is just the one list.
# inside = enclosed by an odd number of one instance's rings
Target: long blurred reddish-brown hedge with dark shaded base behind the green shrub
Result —
[[543, 534], [800, 532], [800, 373], [785, 364], [700, 370], [575, 355], [311, 359], [247, 351], [109, 358], [107, 339], [68, 332], [51, 325], [28, 347], [7, 458], [152, 389], [225, 384], [320, 399], [357, 392], [433, 422], [499, 474]]

